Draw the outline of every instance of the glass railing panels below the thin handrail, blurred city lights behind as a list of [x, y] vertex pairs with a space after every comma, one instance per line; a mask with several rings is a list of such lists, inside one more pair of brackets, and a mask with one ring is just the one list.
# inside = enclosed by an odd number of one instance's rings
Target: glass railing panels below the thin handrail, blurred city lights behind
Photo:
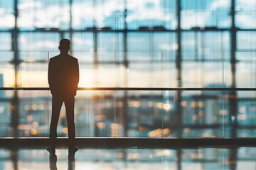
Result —
[[[48, 137], [51, 95], [45, 89], [1, 91], [1, 137]], [[255, 137], [255, 89], [245, 90], [80, 88], [75, 97], [76, 135]], [[68, 137], [64, 105], [58, 137]]]

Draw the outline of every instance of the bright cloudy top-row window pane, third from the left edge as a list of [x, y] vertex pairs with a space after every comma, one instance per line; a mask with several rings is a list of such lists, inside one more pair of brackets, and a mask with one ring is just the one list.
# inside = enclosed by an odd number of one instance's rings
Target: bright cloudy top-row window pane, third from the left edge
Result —
[[90, 29], [92, 27], [107, 30], [124, 28], [123, 1], [73, 1], [73, 28]]

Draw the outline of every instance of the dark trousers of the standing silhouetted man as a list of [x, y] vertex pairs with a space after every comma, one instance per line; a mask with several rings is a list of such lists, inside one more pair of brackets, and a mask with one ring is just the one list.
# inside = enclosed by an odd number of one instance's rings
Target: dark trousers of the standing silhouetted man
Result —
[[73, 142], [73, 140], [75, 140], [74, 96], [53, 96], [52, 116], [50, 121], [50, 140], [54, 142], [57, 139], [57, 125], [60, 117], [60, 109], [63, 103], [65, 104], [68, 123], [68, 138], [70, 142]]

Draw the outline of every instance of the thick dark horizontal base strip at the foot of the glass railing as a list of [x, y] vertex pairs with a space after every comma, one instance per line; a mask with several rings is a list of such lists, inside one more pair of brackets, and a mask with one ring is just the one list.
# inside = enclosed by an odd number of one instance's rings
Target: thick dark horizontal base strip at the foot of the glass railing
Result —
[[[77, 137], [75, 144], [80, 148], [198, 148], [198, 147], [255, 147], [255, 137]], [[23, 148], [23, 147], [46, 147], [50, 145], [46, 137], [1, 137], [0, 147]], [[68, 146], [68, 137], [58, 137], [58, 147]]]

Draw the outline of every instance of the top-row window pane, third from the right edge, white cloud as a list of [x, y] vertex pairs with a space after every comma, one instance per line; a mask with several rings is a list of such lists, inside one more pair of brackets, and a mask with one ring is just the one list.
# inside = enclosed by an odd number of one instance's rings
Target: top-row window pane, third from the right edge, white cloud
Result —
[[[127, 28], [164, 27], [175, 29], [176, 1], [127, 1]], [[158, 29], [158, 28], [156, 28]]]

